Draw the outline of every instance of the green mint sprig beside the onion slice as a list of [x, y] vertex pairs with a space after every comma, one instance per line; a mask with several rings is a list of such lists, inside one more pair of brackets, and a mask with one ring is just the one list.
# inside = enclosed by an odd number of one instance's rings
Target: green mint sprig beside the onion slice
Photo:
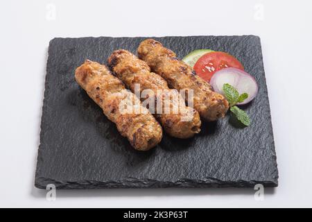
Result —
[[248, 117], [248, 114], [236, 106], [236, 103], [241, 103], [247, 99], [248, 94], [243, 93], [240, 95], [239, 92], [228, 83], [223, 85], [223, 92], [225, 94], [225, 98], [229, 102], [229, 110], [235, 115], [236, 119], [243, 123], [244, 126], [249, 126], [250, 118]]

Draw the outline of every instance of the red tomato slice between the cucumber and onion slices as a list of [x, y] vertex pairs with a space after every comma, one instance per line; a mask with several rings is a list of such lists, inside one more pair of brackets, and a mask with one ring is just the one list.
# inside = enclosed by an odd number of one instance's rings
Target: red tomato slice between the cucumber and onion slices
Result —
[[198, 76], [209, 82], [216, 71], [229, 67], [244, 70], [241, 62], [234, 56], [223, 51], [214, 51], [200, 57], [193, 69]]

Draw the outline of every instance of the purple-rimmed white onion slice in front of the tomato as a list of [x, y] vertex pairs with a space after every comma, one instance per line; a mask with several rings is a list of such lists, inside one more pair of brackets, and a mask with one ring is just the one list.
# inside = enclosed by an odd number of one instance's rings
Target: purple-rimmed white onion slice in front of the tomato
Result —
[[249, 103], [257, 96], [258, 85], [253, 76], [248, 74], [241, 69], [235, 68], [225, 68], [216, 71], [214, 76], [210, 80], [211, 86], [214, 88], [214, 91], [223, 94], [223, 85], [229, 83], [232, 85], [239, 94], [244, 92], [248, 93], [248, 98], [243, 101], [243, 103], [237, 103], [237, 105], [243, 105]]

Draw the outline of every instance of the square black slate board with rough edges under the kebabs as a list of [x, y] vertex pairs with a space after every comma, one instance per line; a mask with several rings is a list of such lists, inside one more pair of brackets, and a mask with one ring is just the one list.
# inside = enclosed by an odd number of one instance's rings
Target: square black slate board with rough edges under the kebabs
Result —
[[204, 123], [192, 139], [164, 135], [148, 152], [135, 151], [114, 123], [74, 80], [85, 59], [105, 63], [116, 49], [136, 53], [146, 37], [55, 38], [49, 45], [35, 187], [277, 186], [270, 106], [257, 36], [156, 37], [179, 58], [194, 49], [226, 51], [256, 78], [259, 94], [245, 106], [252, 124], [238, 129], [229, 117]]

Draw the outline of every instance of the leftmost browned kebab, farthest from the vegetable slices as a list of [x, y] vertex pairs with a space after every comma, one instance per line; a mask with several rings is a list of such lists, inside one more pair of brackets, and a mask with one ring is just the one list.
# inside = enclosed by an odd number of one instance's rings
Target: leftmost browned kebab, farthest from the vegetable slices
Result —
[[[125, 89], [121, 80], [110, 74], [105, 65], [86, 60], [76, 69], [75, 78], [135, 149], [147, 151], [162, 140], [162, 127], [153, 115], [141, 105], [135, 94]], [[123, 112], [120, 104], [127, 104], [128, 100], [130, 104], [134, 101], [139, 104], [141, 112]]]

